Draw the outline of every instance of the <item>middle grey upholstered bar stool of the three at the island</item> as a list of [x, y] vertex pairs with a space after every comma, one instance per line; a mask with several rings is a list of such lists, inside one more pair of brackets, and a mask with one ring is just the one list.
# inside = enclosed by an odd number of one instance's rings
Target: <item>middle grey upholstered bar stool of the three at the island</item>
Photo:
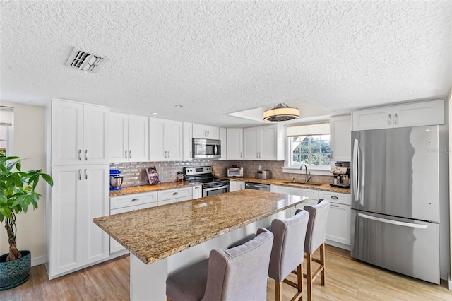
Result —
[[[275, 235], [270, 256], [268, 277], [275, 280], [275, 300], [283, 300], [283, 282], [297, 288], [292, 300], [302, 298], [303, 288], [303, 251], [304, 235], [306, 235], [309, 213], [299, 211], [295, 216], [285, 220], [274, 219], [271, 232]], [[297, 283], [286, 279], [297, 270]]]

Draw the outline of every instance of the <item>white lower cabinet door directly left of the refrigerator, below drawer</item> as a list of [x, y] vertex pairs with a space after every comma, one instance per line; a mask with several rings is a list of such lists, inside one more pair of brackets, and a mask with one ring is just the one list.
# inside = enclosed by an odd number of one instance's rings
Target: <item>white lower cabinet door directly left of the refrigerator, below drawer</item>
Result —
[[327, 240], [350, 246], [350, 213], [349, 205], [330, 204], [325, 233]]

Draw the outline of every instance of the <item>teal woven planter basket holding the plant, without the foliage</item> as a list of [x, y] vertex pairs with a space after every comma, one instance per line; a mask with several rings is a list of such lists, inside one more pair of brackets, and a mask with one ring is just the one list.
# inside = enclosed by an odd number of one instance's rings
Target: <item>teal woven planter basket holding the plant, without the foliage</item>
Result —
[[6, 256], [0, 256], [0, 290], [9, 290], [28, 281], [28, 272], [31, 267], [31, 252], [20, 251], [22, 257], [5, 262]]

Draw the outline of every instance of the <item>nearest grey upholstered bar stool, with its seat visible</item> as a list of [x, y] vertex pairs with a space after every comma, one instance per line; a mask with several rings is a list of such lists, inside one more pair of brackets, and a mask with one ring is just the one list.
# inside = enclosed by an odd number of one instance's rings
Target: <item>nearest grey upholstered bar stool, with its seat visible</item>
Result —
[[205, 261], [167, 278], [167, 300], [266, 300], [273, 234], [259, 228], [253, 240], [213, 249]]

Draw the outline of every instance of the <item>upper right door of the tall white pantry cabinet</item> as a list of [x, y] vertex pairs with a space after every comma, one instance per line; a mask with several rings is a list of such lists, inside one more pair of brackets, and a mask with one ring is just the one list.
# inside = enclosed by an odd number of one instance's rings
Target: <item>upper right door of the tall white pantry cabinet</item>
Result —
[[83, 106], [83, 162], [109, 163], [109, 114], [107, 107]]

